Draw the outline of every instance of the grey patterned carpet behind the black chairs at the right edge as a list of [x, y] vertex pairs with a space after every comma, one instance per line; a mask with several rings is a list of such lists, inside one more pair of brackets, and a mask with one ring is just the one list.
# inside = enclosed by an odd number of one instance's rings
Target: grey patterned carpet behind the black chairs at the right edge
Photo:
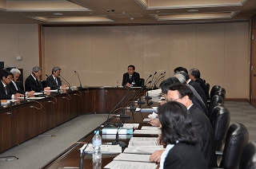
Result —
[[256, 109], [247, 102], [226, 101], [230, 111], [230, 124], [244, 124], [249, 132], [249, 142], [256, 141]]

